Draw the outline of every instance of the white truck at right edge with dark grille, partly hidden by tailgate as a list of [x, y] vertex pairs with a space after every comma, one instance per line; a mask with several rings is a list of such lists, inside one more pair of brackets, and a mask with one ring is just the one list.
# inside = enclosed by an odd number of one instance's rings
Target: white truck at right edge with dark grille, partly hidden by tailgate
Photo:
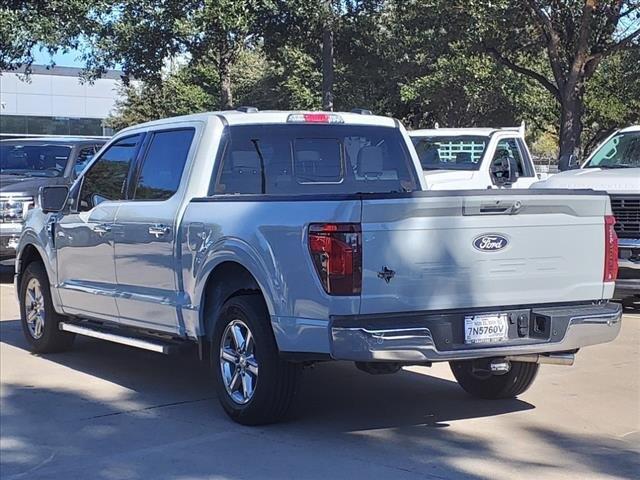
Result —
[[615, 132], [582, 166], [575, 157], [562, 160], [565, 171], [534, 188], [592, 188], [611, 196], [620, 252], [615, 296], [632, 302], [640, 297], [640, 125]]

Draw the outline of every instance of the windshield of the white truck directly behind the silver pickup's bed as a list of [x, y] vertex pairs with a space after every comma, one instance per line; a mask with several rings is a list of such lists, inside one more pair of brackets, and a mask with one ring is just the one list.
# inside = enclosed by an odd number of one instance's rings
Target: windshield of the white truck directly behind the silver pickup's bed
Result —
[[423, 170], [479, 170], [489, 137], [412, 137]]

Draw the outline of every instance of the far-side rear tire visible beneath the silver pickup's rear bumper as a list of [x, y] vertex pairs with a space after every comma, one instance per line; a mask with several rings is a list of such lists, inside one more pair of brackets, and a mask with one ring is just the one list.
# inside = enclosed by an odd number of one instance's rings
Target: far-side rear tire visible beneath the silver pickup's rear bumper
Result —
[[473, 361], [449, 362], [458, 384], [474, 397], [486, 399], [514, 398], [524, 393], [538, 374], [537, 363], [511, 362], [504, 375], [479, 375], [472, 370]]

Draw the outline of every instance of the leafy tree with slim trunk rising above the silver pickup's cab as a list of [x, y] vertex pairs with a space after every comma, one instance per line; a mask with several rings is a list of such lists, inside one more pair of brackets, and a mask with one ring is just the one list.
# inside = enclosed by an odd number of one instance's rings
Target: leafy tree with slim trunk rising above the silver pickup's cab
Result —
[[159, 83], [172, 63], [211, 64], [220, 107], [234, 104], [231, 69], [259, 33], [269, 0], [120, 0], [91, 38], [87, 67], [97, 76], [121, 65], [125, 74]]

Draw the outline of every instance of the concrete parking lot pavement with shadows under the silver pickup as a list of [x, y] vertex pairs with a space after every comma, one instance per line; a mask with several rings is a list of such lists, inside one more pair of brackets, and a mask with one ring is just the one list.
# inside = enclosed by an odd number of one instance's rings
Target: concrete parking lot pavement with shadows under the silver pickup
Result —
[[0, 272], [0, 477], [9, 479], [548, 479], [640, 475], [640, 315], [541, 367], [515, 400], [466, 395], [446, 364], [371, 376], [305, 371], [292, 418], [231, 422], [206, 369], [78, 338], [37, 356]]

